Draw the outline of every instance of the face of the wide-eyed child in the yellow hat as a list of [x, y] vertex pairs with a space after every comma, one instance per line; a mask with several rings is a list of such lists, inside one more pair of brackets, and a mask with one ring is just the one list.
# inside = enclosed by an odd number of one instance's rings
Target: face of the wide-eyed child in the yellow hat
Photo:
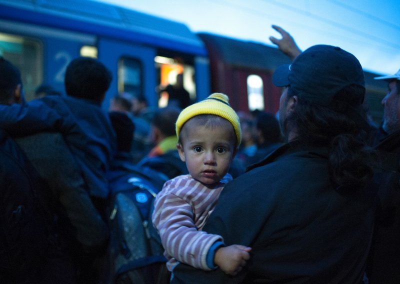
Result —
[[180, 159], [193, 178], [215, 183], [226, 174], [236, 153], [235, 137], [233, 127], [189, 128], [177, 147]]

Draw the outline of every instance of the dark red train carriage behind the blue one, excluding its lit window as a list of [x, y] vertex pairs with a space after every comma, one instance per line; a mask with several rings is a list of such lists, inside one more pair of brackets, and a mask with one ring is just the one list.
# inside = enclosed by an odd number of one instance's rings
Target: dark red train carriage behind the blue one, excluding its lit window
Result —
[[[226, 92], [236, 110], [248, 112], [247, 79], [256, 75], [262, 80], [260, 110], [275, 112], [278, 108], [280, 88], [271, 83], [273, 70], [290, 59], [276, 48], [255, 42], [246, 42], [211, 33], [199, 33], [210, 58], [212, 91]], [[252, 106], [253, 107], [253, 106]]]

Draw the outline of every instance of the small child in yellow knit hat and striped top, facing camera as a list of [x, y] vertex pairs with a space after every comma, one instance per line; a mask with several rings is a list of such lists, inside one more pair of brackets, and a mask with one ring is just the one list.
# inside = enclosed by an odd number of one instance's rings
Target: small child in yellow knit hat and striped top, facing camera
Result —
[[232, 179], [227, 173], [241, 140], [240, 122], [228, 97], [213, 93], [183, 109], [176, 120], [177, 149], [189, 174], [165, 182], [154, 203], [157, 228], [169, 271], [178, 261], [196, 268], [221, 268], [236, 275], [250, 247], [224, 246], [219, 235], [201, 231], [219, 193]]

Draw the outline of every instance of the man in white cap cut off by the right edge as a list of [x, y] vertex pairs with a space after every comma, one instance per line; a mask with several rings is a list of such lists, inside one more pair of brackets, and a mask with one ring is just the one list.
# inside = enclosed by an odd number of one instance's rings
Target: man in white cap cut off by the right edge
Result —
[[400, 281], [400, 70], [375, 79], [387, 82], [381, 127], [386, 136], [375, 147], [379, 204], [366, 275], [372, 284], [394, 284]]

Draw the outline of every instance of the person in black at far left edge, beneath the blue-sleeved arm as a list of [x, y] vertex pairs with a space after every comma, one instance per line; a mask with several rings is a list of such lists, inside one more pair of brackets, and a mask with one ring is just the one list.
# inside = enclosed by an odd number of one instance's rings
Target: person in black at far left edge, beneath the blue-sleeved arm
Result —
[[[0, 57], [0, 103], [21, 101], [19, 70]], [[46, 180], [3, 130], [0, 160], [1, 282], [75, 283], [59, 203]]]

